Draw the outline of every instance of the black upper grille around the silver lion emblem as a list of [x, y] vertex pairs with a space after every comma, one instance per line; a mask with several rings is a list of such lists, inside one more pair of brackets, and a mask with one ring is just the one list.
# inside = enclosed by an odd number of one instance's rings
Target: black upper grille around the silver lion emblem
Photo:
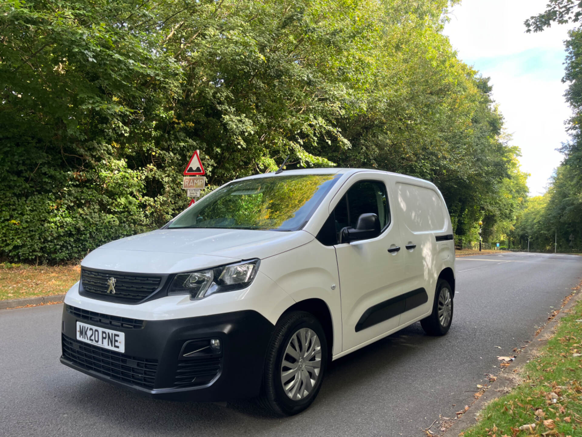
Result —
[[[115, 293], [108, 293], [107, 291], [111, 290], [109, 290], [107, 281], [112, 277], [115, 278]], [[156, 291], [161, 281], [161, 276], [95, 272], [95, 270], [81, 269], [83, 291], [114, 300], [141, 301]]]

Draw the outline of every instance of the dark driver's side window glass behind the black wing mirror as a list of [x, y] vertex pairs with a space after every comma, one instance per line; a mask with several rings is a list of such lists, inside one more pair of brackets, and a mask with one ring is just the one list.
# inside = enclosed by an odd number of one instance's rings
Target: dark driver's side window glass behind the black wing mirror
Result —
[[377, 214], [382, 229], [390, 223], [388, 193], [384, 182], [360, 181], [352, 185], [329, 214], [317, 239], [326, 246], [338, 244], [339, 231], [346, 226], [355, 228], [358, 218], [365, 213]]

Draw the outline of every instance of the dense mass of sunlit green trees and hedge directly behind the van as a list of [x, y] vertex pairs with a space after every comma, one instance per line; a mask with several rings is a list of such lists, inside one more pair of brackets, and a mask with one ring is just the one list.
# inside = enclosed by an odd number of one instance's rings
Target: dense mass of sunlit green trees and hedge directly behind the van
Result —
[[[505, 232], [519, 150], [488, 79], [442, 35], [446, 0], [7, 0], [0, 256], [76, 259], [209, 189], [287, 168], [430, 179], [459, 238]], [[488, 234], [488, 235], [489, 235]]]

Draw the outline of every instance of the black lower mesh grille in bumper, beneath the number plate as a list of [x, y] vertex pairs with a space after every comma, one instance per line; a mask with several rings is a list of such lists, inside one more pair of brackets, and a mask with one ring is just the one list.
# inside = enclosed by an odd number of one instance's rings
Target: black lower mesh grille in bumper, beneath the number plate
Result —
[[63, 334], [63, 357], [101, 375], [132, 385], [154, 388], [158, 360], [145, 360], [82, 343]]

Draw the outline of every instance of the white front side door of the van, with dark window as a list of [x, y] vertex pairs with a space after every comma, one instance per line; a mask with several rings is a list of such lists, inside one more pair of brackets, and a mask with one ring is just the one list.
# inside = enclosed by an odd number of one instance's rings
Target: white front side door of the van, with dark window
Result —
[[375, 238], [335, 245], [343, 351], [398, 327], [403, 305], [399, 300], [404, 273], [402, 241], [390, 210], [390, 185], [378, 174], [372, 178], [365, 174], [356, 177], [359, 180], [343, 187], [334, 198], [336, 231], [339, 234], [343, 227], [355, 228], [361, 214], [374, 213], [378, 215], [381, 233]]

